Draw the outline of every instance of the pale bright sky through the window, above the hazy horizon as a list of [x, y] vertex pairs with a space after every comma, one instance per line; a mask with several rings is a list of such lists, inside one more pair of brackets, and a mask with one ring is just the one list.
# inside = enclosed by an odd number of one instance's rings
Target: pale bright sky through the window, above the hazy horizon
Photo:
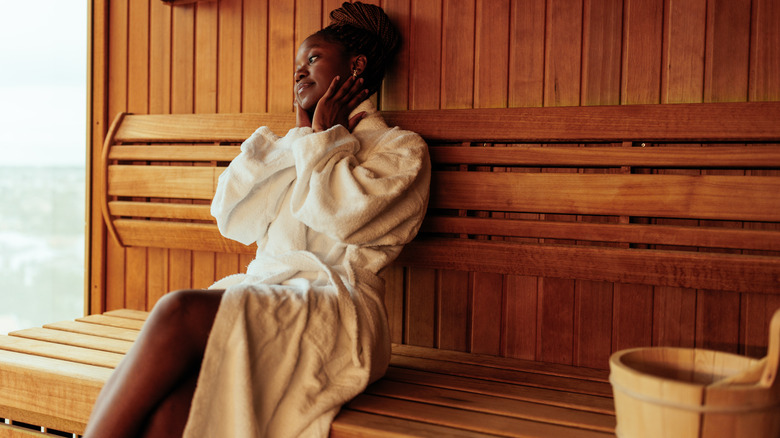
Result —
[[0, 11], [0, 166], [83, 166], [87, 0], [0, 0]]

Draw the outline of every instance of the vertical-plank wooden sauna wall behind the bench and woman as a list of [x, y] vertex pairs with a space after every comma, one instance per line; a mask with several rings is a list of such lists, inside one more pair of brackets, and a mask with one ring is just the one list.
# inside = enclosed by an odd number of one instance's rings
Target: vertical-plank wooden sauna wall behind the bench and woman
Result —
[[[405, 41], [382, 109], [780, 100], [777, 0], [371, 3]], [[122, 111], [291, 111], [295, 50], [339, 4], [93, 0], [93, 175]], [[101, 189], [93, 177], [93, 198]], [[149, 309], [167, 291], [206, 287], [250, 261], [123, 249], [94, 204], [90, 239], [91, 312]], [[762, 354], [767, 319], [780, 307], [777, 295], [480, 273], [397, 268], [388, 280], [396, 342], [594, 367], [637, 345]]]

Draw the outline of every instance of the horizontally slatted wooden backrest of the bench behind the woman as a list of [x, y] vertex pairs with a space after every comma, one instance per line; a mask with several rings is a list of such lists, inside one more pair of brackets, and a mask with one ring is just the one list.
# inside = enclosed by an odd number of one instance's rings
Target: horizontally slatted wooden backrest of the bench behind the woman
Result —
[[[384, 113], [430, 144], [416, 268], [780, 290], [780, 103]], [[253, 253], [209, 215], [258, 126], [292, 114], [117, 117], [101, 200], [127, 246]]]

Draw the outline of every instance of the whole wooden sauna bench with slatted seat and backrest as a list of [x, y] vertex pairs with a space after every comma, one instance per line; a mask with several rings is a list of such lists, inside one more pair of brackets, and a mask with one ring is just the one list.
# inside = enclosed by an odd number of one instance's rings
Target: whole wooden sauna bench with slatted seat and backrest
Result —
[[[484, 342], [502, 333], [507, 318], [485, 302], [537, 312], [520, 298], [529, 279], [780, 293], [780, 103], [385, 117], [423, 135], [434, 163], [420, 236], [384, 273], [391, 329], [442, 349], [394, 344], [387, 376], [345, 406], [333, 436], [612, 435], [606, 370], [446, 350], [448, 327]], [[290, 114], [120, 115], [93, 208], [125, 246], [253, 254], [219, 235], [209, 201], [243, 139], [261, 124], [283, 133], [293, 123]], [[428, 312], [438, 340], [418, 342], [428, 336], [417, 335], [420, 308], [432, 306], [421, 297], [450, 294], [471, 304]], [[539, 309], [539, 319], [556, 317]], [[79, 433], [144, 317], [122, 310], [3, 337], [0, 418]], [[70, 334], [80, 330], [92, 336]]]

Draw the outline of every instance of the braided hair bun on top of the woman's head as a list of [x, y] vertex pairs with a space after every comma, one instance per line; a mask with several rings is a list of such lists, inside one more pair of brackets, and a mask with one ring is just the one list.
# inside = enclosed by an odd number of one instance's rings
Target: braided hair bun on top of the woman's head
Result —
[[393, 53], [399, 44], [398, 32], [390, 18], [379, 6], [355, 2], [344, 2], [330, 13], [331, 24], [352, 26], [375, 35], [385, 53]]

